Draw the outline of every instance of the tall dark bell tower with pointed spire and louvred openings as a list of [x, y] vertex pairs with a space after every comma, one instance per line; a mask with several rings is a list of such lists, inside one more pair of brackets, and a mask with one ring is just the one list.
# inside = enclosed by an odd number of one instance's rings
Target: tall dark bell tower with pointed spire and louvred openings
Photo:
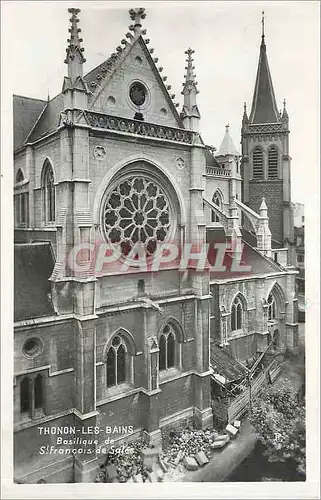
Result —
[[[268, 208], [273, 247], [293, 243], [289, 116], [285, 100], [278, 111], [267, 59], [264, 12], [259, 63], [250, 116], [242, 119], [243, 202], [259, 213], [262, 197]], [[289, 252], [289, 260], [291, 261]]]

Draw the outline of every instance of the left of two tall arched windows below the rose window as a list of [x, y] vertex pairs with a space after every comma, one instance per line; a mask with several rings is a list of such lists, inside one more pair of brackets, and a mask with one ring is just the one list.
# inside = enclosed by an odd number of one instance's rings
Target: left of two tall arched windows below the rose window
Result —
[[120, 335], [113, 338], [107, 352], [107, 387], [119, 385], [126, 381], [127, 349]]

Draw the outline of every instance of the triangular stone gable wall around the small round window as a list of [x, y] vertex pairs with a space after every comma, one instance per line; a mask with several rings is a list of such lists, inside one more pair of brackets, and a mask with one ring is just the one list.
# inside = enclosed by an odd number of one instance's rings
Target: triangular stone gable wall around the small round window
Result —
[[[141, 113], [146, 122], [183, 128], [173, 97], [141, 36], [132, 44], [127, 43], [123, 54], [115, 54], [112, 60], [113, 63], [108, 60], [85, 76], [93, 92], [92, 110], [124, 118], [134, 118], [136, 113]], [[140, 106], [130, 97], [135, 82], [146, 90], [145, 101]]]

